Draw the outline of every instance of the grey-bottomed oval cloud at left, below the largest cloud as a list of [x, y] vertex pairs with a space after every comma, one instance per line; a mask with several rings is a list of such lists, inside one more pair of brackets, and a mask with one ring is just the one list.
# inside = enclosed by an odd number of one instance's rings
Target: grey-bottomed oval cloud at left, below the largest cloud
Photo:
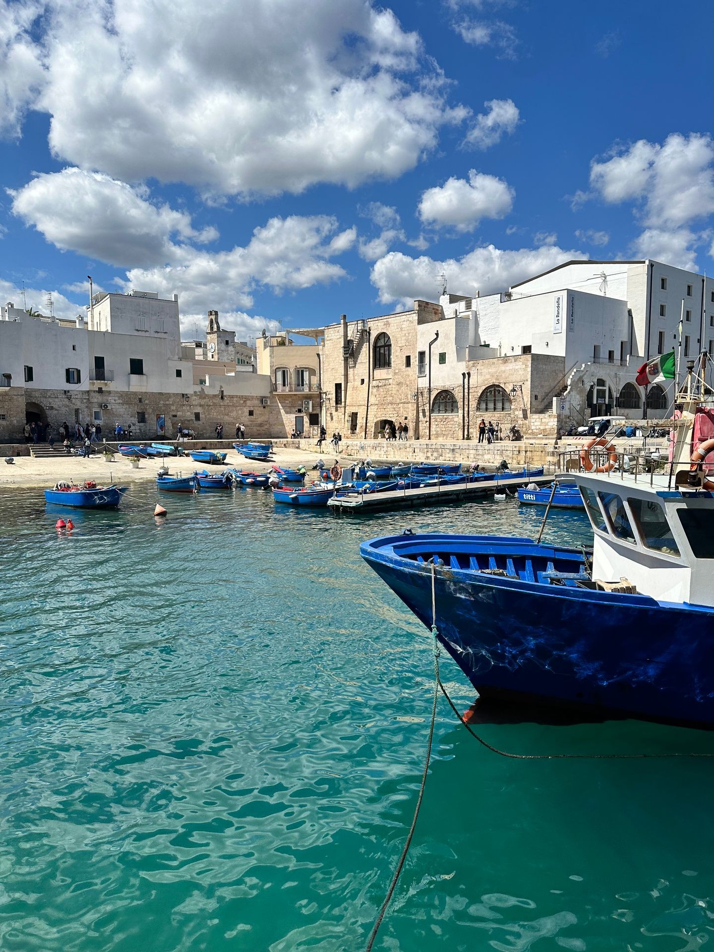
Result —
[[154, 206], [138, 189], [98, 172], [37, 175], [10, 195], [13, 213], [57, 248], [119, 267], [166, 261], [172, 236], [199, 243], [218, 237], [215, 228], [192, 228], [185, 211]]

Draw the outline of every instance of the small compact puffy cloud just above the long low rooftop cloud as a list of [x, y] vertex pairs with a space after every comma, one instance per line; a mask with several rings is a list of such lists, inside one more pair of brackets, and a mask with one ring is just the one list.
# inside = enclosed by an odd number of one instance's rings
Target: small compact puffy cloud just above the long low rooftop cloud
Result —
[[471, 169], [468, 181], [450, 178], [427, 188], [419, 202], [419, 217], [437, 228], [453, 226], [472, 231], [482, 218], [503, 218], [513, 207], [515, 192], [503, 179]]

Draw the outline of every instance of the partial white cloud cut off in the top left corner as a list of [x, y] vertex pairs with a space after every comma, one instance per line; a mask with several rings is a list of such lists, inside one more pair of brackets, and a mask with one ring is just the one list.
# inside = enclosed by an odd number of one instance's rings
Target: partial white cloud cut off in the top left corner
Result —
[[34, 0], [0, 0], [0, 135], [20, 134], [26, 109], [44, 82], [41, 50], [30, 29], [43, 5]]

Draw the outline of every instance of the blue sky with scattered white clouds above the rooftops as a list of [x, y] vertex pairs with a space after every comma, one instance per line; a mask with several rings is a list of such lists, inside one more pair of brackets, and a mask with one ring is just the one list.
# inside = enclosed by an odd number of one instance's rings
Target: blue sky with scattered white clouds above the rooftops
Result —
[[444, 274], [712, 273], [713, 28], [704, 0], [0, 0], [0, 301], [73, 317], [90, 274], [245, 340]]

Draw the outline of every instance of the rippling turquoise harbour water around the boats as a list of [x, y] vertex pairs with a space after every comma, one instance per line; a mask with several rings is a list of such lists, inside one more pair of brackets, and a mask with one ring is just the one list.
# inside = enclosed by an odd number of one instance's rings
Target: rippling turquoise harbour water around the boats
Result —
[[[0, 494], [0, 948], [364, 948], [426, 749], [426, 630], [359, 558], [417, 530], [534, 534], [511, 504], [334, 518], [269, 494], [131, 489], [54, 530]], [[588, 541], [585, 516], [549, 538]], [[470, 685], [444, 657], [458, 704]], [[521, 752], [714, 749], [634, 721], [484, 724]], [[442, 700], [375, 948], [699, 949], [708, 761], [497, 757]]]

